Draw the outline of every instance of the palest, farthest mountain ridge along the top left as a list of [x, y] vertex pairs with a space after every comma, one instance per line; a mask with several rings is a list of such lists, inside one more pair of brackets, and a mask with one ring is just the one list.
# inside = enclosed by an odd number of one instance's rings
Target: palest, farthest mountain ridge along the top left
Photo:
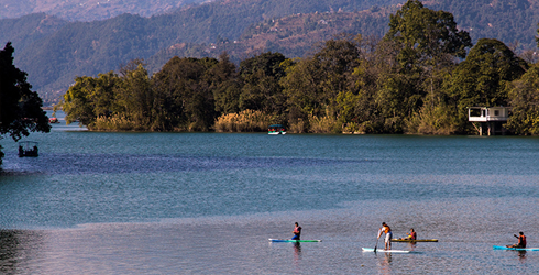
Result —
[[2, 0], [0, 19], [46, 13], [67, 21], [94, 21], [123, 13], [152, 16], [210, 0]]

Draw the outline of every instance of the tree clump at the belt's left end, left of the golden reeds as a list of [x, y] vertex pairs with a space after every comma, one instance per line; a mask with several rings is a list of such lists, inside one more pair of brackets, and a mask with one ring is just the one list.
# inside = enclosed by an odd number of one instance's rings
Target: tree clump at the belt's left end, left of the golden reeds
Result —
[[152, 79], [142, 61], [128, 64], [121, 76], [77, 77], [61, 107], [68, 123], [78, 120], [90, 130], [208, 131], [217, 118], [213, 90], [235, 72], [222, 57], [175, 57]]

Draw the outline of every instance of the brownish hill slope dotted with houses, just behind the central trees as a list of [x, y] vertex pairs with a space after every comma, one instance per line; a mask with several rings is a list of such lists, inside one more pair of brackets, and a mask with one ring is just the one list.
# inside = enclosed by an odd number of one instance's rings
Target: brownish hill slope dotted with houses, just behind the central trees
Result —
[[397, 8], [377, 8], [359, 12], [316, 12], [265, 20], [248, 28], [235, 41], [216, 43], [178, 43], [147, 58], [147, 69], [156, 73], [174, 56], [218, 57], [227, 52], [240, 63], [264, 52], [278, 52], [287, 57], [302, 57], [317, 44], [345, 34], [382, 37], [388, 30], [388, 16]]

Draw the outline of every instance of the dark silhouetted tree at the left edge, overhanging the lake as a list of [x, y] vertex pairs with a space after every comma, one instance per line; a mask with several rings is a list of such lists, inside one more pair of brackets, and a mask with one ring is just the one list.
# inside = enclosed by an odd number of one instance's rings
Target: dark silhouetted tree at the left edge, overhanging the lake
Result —
[[[30, 132], [51, 130], [42, 110], [43, 101], [26, 81], [26, 73], [13, 65], [14, 48], [8, 42], [0, 51], [0, 140], [9, 134], [14, 141]], [[0, 164], [3, 152], [0, 146]]]

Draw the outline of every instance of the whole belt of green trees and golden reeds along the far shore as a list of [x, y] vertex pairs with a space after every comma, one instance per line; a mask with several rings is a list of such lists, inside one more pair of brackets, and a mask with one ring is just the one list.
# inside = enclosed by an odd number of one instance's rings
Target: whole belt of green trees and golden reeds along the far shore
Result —
[[[537, 68], [504, 43], [475, 45], [449, 12], [410, 0], [389, 31], [318, 44], [311, 55], [266, 52], [239, 68], [219, 58], [173, 57], [153, 77], [141, 61], [78, 77], [64, 97], [68, 121], [90, 130], [471, 133], [468, 107], [513, 106], [507, 123], [538, 134]], [[466, 56], [466, 53], [468, 56]]]

